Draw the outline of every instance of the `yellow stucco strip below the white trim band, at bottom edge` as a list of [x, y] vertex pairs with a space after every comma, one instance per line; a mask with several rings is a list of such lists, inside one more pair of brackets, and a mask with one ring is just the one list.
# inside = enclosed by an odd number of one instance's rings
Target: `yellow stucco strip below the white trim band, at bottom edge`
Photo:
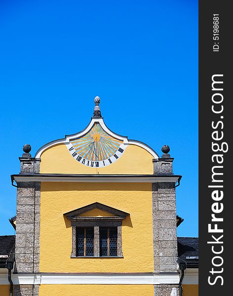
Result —
[[39, 296], [154, 296], [153, 285], [40, 285]]

